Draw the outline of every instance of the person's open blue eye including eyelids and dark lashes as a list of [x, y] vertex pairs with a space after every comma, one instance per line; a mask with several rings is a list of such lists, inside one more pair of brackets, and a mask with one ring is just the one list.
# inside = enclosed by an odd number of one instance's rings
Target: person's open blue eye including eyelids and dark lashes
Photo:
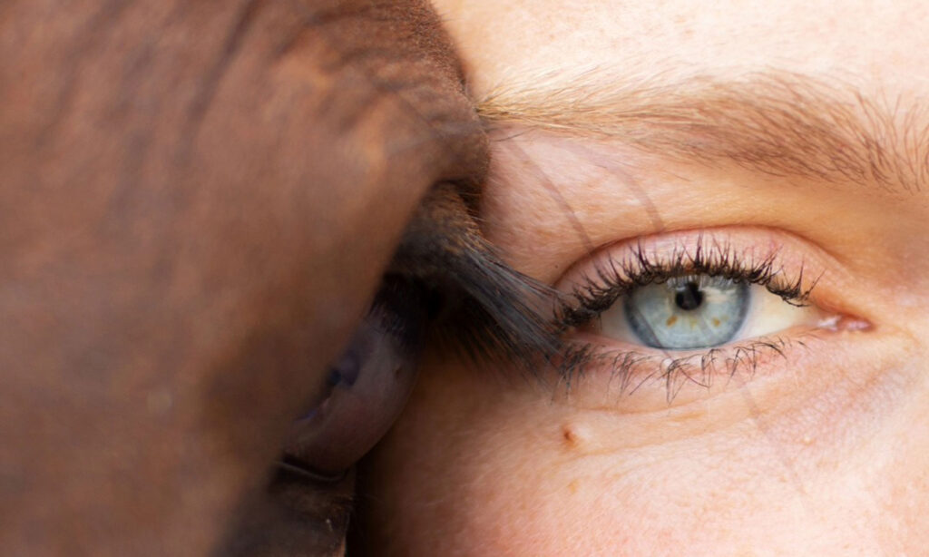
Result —
[[606, 375], [606, 389], [621, 399], [660, 391], [674, 404], [682, 391], [699, 395], [774, 373], [832, 332], [868, 327], [818, 296], [829, 266], [803, 241], [767, 230], [608, 246], [559, 281], [569, 292], [559, 316], [561, 379]]

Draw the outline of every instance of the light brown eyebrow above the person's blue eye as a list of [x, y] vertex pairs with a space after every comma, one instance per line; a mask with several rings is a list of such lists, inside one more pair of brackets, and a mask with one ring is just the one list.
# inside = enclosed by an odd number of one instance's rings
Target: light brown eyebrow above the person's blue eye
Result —
[[[513, 80], [479, 99], [489, 128], [517, 125], [619, 139], [687, 162], [734, 162], [768, 175], [919, 191], [929, 119], [849, 84], [786, 72], [617, 85], [596, 71]], [[627, 80], [628, 83], [628, 80]]]

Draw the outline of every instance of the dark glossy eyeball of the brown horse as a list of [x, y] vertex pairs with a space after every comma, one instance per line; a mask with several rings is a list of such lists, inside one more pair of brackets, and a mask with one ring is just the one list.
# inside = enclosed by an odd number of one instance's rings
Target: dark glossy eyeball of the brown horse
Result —
[[328, 396], [292, 424], [284, 465], [337, 478], [387, 433], [415, 382], [424, 308], [414, 286], [385, 283], [330, 368]]

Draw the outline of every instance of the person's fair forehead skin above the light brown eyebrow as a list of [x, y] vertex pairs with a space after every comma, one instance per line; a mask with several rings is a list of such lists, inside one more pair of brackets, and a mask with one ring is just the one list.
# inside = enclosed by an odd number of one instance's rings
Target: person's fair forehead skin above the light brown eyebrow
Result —
[[829, 75], [882, 94], [929, 92], [929, 4], [833, 0], [434, 0], [478, 97], [514, 76], [595, 68]]

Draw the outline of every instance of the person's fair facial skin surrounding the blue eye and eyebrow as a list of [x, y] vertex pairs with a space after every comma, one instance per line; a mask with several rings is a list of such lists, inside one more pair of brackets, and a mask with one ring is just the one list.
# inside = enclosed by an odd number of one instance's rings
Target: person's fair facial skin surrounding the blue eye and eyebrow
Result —
[[[638, 238], [686, 242], [702, 234], [754, 249], [776, 245], [784, 266], [802, 261], [807, 278], [818, 276], [810, 302], [841, 317], [840, 325], [781, 331], [800, 335], [805, 347], [761, 356], [752, 371], [724, 369], [709, 389], [683, 382], [670, 403], [661, 381], [639, 379], [635, 393], [618, 391], [608, 366], [587, 369], [567, 393], [550, 370], [539, 370], [546, 386], [433, 351], [410, 405], [368, 463], [363, 531], [376, 554], [924, 552], [929, 202], [922, 130], [929, 115], [914, 107], [929, 98], [926, 6], [435, 5], [478, 99], [527, 84], [686, 88], [698, 77], [742, 80], [751, 92], [755, 72], [799, 75], [827, 84], [852, 111], [868, 112], [846, 85], [879, 99], [870, 113], [890, 116], [878, 143], [902, 146], [915, 164], [909, 174], [866, 170], [843, 178], [832, 166], [816, 177], [784, 159], [748, 158], [760, 144], [740, 159], [723, 153], [701, 163], [622, 134], [559, 133], [488, 112], [499, 133], [481, 217], [518, 270], [564, 287], [570, 271]], [[745, 122], [737, 120], [727, 122]], [[782, 124], [765, 122], [762, 131]], [[781, 127], [779, 136], [790, 135], [790, 125]], [[906, 133], [921, 139], [897, 141]], [[819, 156], [824, 167], [835, 163], [828, 151]]]

